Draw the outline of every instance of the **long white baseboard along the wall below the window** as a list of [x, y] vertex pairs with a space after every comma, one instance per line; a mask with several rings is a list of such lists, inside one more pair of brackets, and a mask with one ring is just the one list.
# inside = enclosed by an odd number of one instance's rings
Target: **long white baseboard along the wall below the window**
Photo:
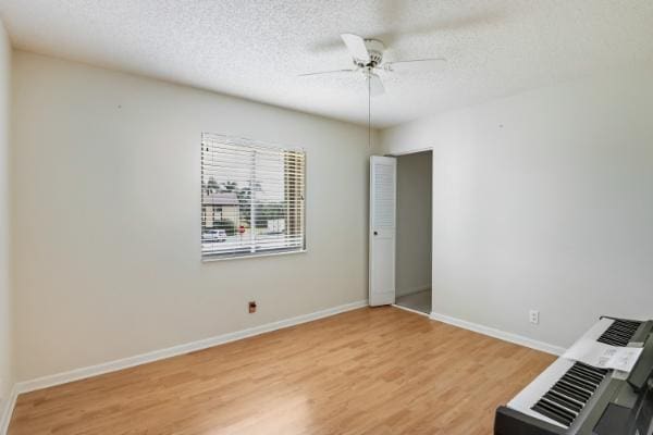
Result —
[[[309, 314], [298, 315], [296, 318], [291, 318], [286, 320], [281, 320], [278, 322], [268, 323], [261, 326], [250, 327], [248, 330], [237, 331], [234, 333], [227, 333], [223, 335], [219, 335], [215, 337], [205, 338], [198, 341], [187, 343], [184, 345], [169, 347], [167, 349], [155, 350], [152, 352], [137, 355], [134, 357], [124, 358], [121, 360], [104, 362], [97, 365], [91, 365], [87, 368], [81, 368], [71, 370], [64, 373], [58, 373], [53, 375], [48, 375], [44, 377], [39, 377], [32, 381], [24, 381], [16, 384], [16, 393], [28, 393], [37, 389], [48, 388], [56, 385], [67, 384], [69, 382], [79, 381], [91, 376], [97, 376], [104, 373], [115, 372], [123, 369], [128, 369], [135, 365], [146, 364], [148, 362], [153, 362], [158, 360], [162, 360], [165, 358], [176, 357], [180, 355], [194, 352], [197, 350], [207, 349], [209, 347], [223, 345], [225, 343], [239, 340], [247, 337], [252, 337], [255, 335], [269, 333], [276, 330], [282, 330], [288, 326], [295, 326], [301, 323], [311, 322], [313, 320], [328, 318], [330, 315], [340, 314], [346, 311], [356, 310], [358, 308], [367, 307], [367, 300], [359, 300], [356, 302], [345, 303], [343, 306], [328, 308], [325, 310], [316, 311]], [[0, 433], [0, 435], [3, 435]]]

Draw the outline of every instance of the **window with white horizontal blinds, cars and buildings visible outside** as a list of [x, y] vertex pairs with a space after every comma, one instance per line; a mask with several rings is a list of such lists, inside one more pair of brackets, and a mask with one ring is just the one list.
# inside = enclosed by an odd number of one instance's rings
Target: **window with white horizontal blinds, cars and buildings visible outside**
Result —
[[305, 166], [300, 149], [204, 134], [202, 259], [304, 250]]

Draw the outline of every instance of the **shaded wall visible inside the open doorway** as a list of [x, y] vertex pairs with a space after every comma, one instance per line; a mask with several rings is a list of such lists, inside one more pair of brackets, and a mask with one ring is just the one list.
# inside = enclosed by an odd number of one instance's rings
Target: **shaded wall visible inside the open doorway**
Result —
[[397, 158], [396, 291], [431, 288], [431, 152]]

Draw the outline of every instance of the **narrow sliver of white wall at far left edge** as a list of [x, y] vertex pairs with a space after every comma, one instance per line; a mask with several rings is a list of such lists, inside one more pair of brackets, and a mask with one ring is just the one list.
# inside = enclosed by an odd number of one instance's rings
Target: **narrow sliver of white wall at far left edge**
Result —
[[9, 259], [11, 54], [9, 37], [0, 21], [0, 424], [13, 385], [13, 302]]

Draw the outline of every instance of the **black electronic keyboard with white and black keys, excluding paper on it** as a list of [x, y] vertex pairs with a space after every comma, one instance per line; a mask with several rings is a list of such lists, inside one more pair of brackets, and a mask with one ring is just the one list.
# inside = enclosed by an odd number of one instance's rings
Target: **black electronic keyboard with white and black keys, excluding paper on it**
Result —
[[581, 339], [643, 347], [630, 373], [558, 358], [505, 407], [495, 435], [652, 435], [653, 321], [602, 318]]

